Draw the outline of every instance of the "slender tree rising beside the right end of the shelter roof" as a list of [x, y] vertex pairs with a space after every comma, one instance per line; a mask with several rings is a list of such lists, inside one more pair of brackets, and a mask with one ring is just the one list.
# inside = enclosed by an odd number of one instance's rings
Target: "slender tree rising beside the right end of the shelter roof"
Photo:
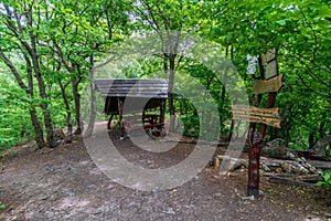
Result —
[[[174, 130], [175, 109], [172, 87], [175, 71], [182, 56], [179, 56], [181, 32], [200, 28], [205, 2], [202, 1], [169, 1], [169, 0], [137, 0], [127, 1], [134, 6], [134, 17], [139, 27], [153, 30], [162, 42], [163, 71], [169, 74], [168, 105], [170, 113], [170, 131]], [[137, 23], [138, 23], [137, 22]]]

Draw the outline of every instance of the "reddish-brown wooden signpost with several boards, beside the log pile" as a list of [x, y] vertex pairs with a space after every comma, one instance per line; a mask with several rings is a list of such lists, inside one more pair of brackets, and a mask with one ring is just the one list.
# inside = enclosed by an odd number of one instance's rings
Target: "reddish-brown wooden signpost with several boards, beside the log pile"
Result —
[[[276, 57], [277, 51], [275, 50], [274, 55], [269, 60], [265, 56], [265, 62], [273, 61], [275, 62], [271, 66], [267, 65], [269, 72], [266, 78], [275, 76], [278, 74], [278, 64]], [[267, 57], [267, 59], [266, 59]], [[254, 197], [263, 196], [263, 192], [259, 191], [259, 158], [260, 150], [264, 146], [263, 139], [265, 137], [267, 125], [273, 127], [280, 128], [281, 119], [278, 115], [279, 108], [274, 108], [277, 92], [284, 86], [284, 75], [277, 75], [269, 80], [264, 80], [265, 67], [263, 56], [258, 57], [258, 66], [260, 80], [253, 85], [252, 94], [256, 95], [254, 106], [249, 108], [239, 105], [233, 105], [233, 118], [234, 119], [244, 119], [248, 120], [249, 131], [249, 161], [248, 161], [248, 185], [247, 185], [247, 194]], [[258, 108], [263, 93], [268, 93], [267, 108]], [[259, 128], [256, 131], [256, 124], [259, 124]]]

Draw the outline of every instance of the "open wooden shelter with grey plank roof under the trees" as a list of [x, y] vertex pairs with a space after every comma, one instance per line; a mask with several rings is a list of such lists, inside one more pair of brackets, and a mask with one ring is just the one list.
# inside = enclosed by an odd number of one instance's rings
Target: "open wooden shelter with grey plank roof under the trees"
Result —
[[[95, 80], [97, 90], [105, 97], [105, 114], [109, 115], [108, 129], [113, 117], [118, 115], [118, 124], [126, 131], [129, 122], [140, 123], [150, 136], [163, 136], [164, 110], [168, 97], [168, 80]], [[148, 114], [150, 110], [159, 114]], [[124, 115], [130, 115], [124, 117]]]

